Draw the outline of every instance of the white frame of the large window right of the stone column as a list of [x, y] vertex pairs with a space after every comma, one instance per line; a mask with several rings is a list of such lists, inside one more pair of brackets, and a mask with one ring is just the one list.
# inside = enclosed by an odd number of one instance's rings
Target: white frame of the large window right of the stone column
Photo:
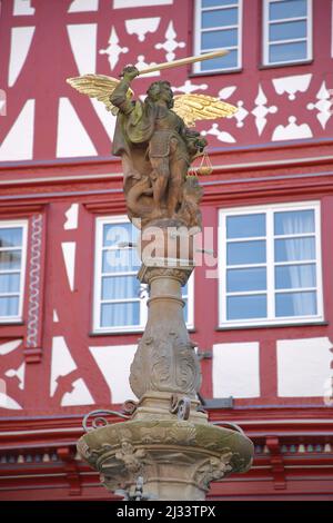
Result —
[[[275, 275], [274, 275], [274, 230], [273, 230], [273, 214], [275, 211], [289, 211], [289, 210], [314, 210], [314, 224], [315, 224], [315, 253], [316, 253], [316, 306], [317, 314], [311, 316], [284, 316], [275, 317], [273, 312], [275, 309]], [[268, 296], [268, 317], [266, 318], [251, 318], [251, 319], [226, 319], [226, 217], [251, 215], [258, 213], [265, 213], [270, 215], [266, 219], [266, 296]], [[304, 235], [306, 236], [306, 235]], [[307, 235], [309, 236], [309, 235]], [[285, 237], [285, 236], [284, 236]], [[271, 240], [268, 240], [271, 238]], [[250, 239], [262, 239], [246, 238]], [[244, 241], [245, 241], [244, 240]], [[304, 260], [305, 262], [305, 260]], [[306, 260], [307, 262], [307, 260]], [[261, 264], [255, 264], [261, 265]], [[282, 264], [278, 264], [282, 265]], [[243, 266], [244, 268], [248, 265]], [[302, 289], [306, 290], [306, 289]], [[235, 293], [238, 294], [238, 293]], [[241, 293], [239, 293], [241, 294]], [[249, 293], [250, 294], [250, 293]], [[253, 292], [252, 294], [262, 294], [261, 292]], [[290, 204], [274, 204], [274, 205], [262, 205], [251, 207], [238, 207], [219, 210], [219, 326], [220, 327], [246, 327], [246, 326], [266, 326], [266, 325], [295, 325], [305, 323], [320, 323], [323, 322], [323, 285], [322, 285], [322, 253], [321, 253], [321, 205], [320, 201], [303, 201], [303, 203], [290, 203]]]

